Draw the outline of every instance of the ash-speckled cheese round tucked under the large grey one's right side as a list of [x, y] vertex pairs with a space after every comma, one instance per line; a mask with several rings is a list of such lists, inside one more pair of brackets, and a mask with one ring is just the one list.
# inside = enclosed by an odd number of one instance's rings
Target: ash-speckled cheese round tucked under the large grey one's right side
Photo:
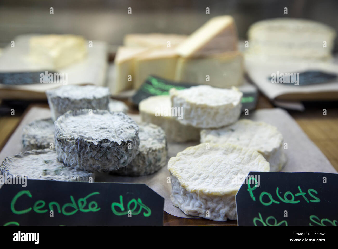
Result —
[[139, 154], [128, 166], [114, 173], [136, 177], [155, 173], [166, 165], [168, 146], [162, 128], [149, 123], [141, 123], [139, 127]]

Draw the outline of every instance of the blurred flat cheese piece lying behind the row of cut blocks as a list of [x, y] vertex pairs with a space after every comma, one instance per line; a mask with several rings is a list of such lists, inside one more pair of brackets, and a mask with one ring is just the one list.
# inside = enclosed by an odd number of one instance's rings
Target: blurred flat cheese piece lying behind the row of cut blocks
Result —
[[[161, 33], [150, 33], [150, 34], [128, 34], [124, 37], [124, 46], [132, 47], [158, 47], [177, 45], [187, 39], [186, 35], [177, 34], [161, 34]], [[168, 43], [170, 42], [170, 43]]]

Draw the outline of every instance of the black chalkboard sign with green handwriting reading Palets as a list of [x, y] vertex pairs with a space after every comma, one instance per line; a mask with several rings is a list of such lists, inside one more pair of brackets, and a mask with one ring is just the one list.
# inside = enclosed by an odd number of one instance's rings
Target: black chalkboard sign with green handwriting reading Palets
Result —
[[338, 174], [250, 172], [236, 195], [243, 226], [337, 226]]

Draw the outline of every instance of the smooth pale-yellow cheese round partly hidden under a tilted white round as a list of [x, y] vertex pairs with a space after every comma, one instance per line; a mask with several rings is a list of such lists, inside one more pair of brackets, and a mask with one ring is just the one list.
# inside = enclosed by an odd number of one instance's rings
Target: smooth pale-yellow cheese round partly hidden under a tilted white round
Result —
[[171, 108], [168, 95], [152, 96], [142, 100], [139, 104], [141, 121], [160, 126], [167, 135], [168, 142], [184, 143], [199, 141], [200, 129], [191, 125], [184, 125], [176, 120], [176, 109]]

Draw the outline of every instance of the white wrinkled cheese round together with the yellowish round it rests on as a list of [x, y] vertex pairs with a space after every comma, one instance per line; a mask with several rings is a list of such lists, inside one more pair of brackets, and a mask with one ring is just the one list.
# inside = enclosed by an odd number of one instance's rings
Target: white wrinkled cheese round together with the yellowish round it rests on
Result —
[[241, 114], [242, 92], [207, 85], [177, 90], [142, 100], [141, 120], [161, 126], [169, 142], [198, 141], [201, 128], [236, 122]]

